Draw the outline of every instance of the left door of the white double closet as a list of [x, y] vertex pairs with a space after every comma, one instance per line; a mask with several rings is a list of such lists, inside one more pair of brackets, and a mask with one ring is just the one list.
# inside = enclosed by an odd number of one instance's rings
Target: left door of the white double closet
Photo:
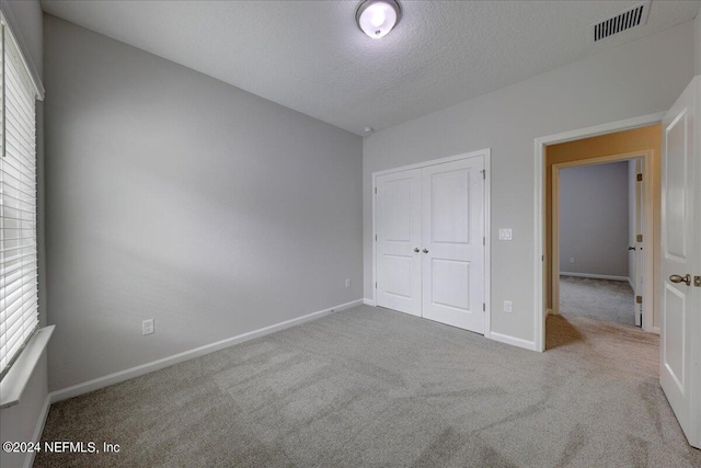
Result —
[[376, 179], [377, 305], [421, 317], [421, 169]]

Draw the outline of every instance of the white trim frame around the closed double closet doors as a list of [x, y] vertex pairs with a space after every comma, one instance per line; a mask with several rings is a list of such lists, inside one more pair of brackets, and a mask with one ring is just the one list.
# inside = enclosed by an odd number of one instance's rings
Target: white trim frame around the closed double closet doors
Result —
[[484, 148], [476, 151], [464, 152], [461, 155], [449, 156], [447, 158], [433, 159], [430, 161], [418, 162], [415, 164], [401, 165], [399, 168], [386, 169], [372, 172], [372, 305], [377, 305], [377, 178], [380, 175], [392, 174], [395, 172], [410, 171], [413, 169], [423, 169], [429, 165], [443, 164], [445, 162], [461, 161], [482, 157], [484, 159], [484, 338], [490, 338], [492, 331], [492, 248], [490, 242], [491, 233], [491, 193], [492, 193], [492, 171], [491, 157], [492, 149]]

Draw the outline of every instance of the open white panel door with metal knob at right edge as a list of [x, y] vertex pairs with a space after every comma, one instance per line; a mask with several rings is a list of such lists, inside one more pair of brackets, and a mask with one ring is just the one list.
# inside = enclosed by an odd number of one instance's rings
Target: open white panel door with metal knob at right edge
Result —
[[659, 383], [689, 443], [701, 448], [701, 76], [663, 121]]

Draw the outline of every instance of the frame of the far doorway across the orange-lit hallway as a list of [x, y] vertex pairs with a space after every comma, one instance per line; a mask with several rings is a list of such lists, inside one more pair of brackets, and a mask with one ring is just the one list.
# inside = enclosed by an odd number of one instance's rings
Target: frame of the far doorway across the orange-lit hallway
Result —
[[[560, 311], [560, 170], [566, 168], [577, 168], [585, 165], [604, 164], [607, 162], [629, 161], [631, 159], [643, 160], [643, 210], [644, 210], [644, 226], [643, 226], [643, 243], [650, 246], [643, 250], [643, 323], [642, 328], [645, 331], [655, 331], [653, 329], [653, 309], [654, 309], [654, 272], [653, 272], [653, 152], [651, 149], [627, 152], [621, 155], [601, 156], [598, 158], [581, 159], [577, 161], [558, 162], [552, 164], [552, 197], [550, 199], [552, 204], [552, 221], [550, 225], [551, 244], [552, 244], [552, 259], [551, 259], [551, 284], [552, 284], [552, 310], [554, 315], [559, 315]], [[631, 305], [632, 306], [632, 305]]]

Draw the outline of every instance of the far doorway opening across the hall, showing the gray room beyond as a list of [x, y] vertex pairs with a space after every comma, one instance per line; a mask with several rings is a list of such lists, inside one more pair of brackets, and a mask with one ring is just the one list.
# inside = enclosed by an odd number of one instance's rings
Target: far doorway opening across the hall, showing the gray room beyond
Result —
[[[582, 145], [590, 141], [549, 148], [549, 159]], [[652, 152], [552, 163], [552, 313], [642, 327], [644, 187], [652, 175], [644, 162]]]

